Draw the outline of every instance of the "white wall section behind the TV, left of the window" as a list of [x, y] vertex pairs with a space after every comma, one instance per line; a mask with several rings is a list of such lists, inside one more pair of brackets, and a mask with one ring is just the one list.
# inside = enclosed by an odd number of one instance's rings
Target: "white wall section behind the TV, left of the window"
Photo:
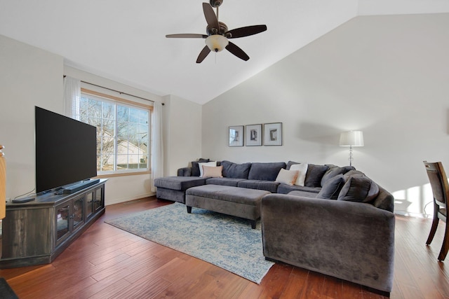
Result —
[[36, 186], [34, 106], [62, 113], [59, 55], [0, 35], [0, 144], [5, 146], [6, 197]]

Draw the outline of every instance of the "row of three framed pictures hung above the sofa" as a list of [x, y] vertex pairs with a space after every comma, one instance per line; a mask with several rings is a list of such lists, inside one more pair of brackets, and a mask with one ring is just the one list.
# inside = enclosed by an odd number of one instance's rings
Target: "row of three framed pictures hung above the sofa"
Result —
[[232, 125], [228, 132], [229, 146], [282, 145], [282, 123]]

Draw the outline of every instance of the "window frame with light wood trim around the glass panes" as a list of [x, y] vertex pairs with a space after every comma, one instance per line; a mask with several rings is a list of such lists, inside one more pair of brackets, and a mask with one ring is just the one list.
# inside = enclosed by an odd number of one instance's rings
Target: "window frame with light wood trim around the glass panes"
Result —
[[[152, 148], [152, 136], [151, 136], [151, 120], [152, 120], [152, 113], [153, 113], [153, 106], [142, 104], [139, 102], [133, 102], [128, 99], [123, 99], [121, 97], [116, 97], [113, 95], [107, 95], [102, 92], [97, 92], [95, 90], [89, 90], [87, 88], [81, 88], [81, 97], [83, 95], [91, 96], [95, 99], [99, 98], [100, 100], [104, 100], [105, 102], [113, 102], [114, 105], [126, 105], [126, 106], [132, 106], [135, 108], [145, 109], [149, 112], [149, 122], [148, 122], [148, 148], [147, 148], [147, 169], [126, 169], [126, 170], [113, 170], [113, 171], [107, 171], [107, 172], [98, 172], [97, 177], [98, 178], [106, 178], [106, 177], [114, 177], [114, 176], [130, 176], [130, 175], [139, 175], [139, 174], [151, 174], [151, 148]], [[76, 113], [79, 113], [79, 111], [76, 111]], [[116, 119], [114, 119], [116, 121]], [[114, 164], [116, 164], [116, 136], [114, 136]], [[114, 165], [116, 167], [116, 165]]]

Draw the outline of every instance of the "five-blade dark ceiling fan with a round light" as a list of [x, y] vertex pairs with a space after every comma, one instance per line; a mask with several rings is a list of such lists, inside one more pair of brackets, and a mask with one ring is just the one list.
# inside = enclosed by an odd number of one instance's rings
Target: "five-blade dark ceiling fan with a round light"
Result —
[[[223, 22], [218, 22], [218, 8], [222, 5], [223, 0], [210, 0], [210, 4], [203, 3], [204, 17], [208, 26], [206, 27], [207, 34], [167, 34], [168, 38], [182, 38], [182, 39], [206, 39], [206, 46], [199, 53], [196, 63], [201, 63], [210, 51], [220, 52], [223, 49], [236, 55], [242, 60], [249, 60], [250, 57], [246, 55], [241, 48], [236, 44], [228, 41], [228, 39], [236, 39], [239, 37], [250, 36], [258, 34], [267, 30], [267, 25], [253, 25], [247, 27], [240, 27], [228, 30]], [[217, 15], [213, 11], [213, 7], [217, 8]]]

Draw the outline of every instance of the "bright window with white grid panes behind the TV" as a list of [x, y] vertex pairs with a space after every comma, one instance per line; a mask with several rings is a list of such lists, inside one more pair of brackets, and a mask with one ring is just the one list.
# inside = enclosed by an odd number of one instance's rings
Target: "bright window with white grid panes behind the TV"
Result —
[[81, 90], [77, 118], [97, 127], [98, 174], [149, 171], [151, 107]]

